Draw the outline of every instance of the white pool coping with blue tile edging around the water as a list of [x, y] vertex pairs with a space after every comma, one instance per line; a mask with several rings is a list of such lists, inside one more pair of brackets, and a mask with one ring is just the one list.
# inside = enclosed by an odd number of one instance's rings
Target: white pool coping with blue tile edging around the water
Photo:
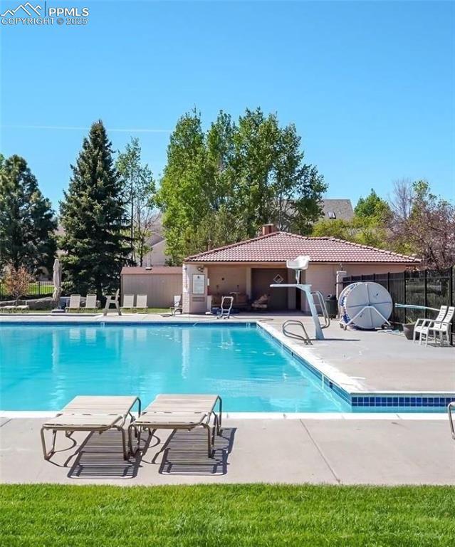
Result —
[[[106, 318], [105, 316], [98, 315], [96, 316], [98, 321], [93, 321], [93, 316], [90, 316], [90, 319], [88, 321], [80, 321], [80, 318], [77, 317], [76, 321], [73, 321], [73, 319], [76, 319], [75, 316], [72, 316], [69, 319], [69, 321], [59, 321], [61, 319], [61, 316], [56, 316], [55, 320], [53, 321], [33, 321], [37, 318], [37, 316], [21, 316], [21, 318], [18, 318], [17, 321], [4, 321], [3, 318], [0, 318], [0, 325], [23, 325], [23, 324], [38, 324], [38, 325], [93, 325], [93, 326], [103, 326], [106, 327], [108, 325], [117, 326], [117, 325], [123, 325], [123, 326], [192, 326], [197, 327], [198, 325], [231, 325], [231, 326], [244, 326], [244, 327], [251, 327], [251, 325], [254, 325], [255, 328], [259, 328], [259, 330], [262, 330], [266, 335], [270, 336], [270, 338], [273, 339], [275, 343], [277, 343], [283, 350], [286, 350], [288, 353], [291, 354], [293, 358], [295, 358], [300, 365], [303, 365], [303, 367], [308, 370], [310, 373], [312, 373], [315, 377], [318, 378], [322, 382], [323, 387], [328, 388], [329, 390], [332, 390], [338, 397], [340, 397], [342, 400], [347, 402], [350, 407], [352, 408], [367, 408], [374, 409], [374, 408], [381, 408], [381, 409], [387, 409], [387, 407], [390, 407], [390, 414], [397, 416], [397, 415], [411, 415], [411, 414], [417, 414], [417, 415], [426, 415], [426, 416], [434, 416], [437, 415], [438, 412], [425, 412], [424, 408], [439, 408], [442, 409], [446, 407], [450, 401], [455, 400], [455, 392], [441, 392], [441, 391], [365, 391], [360, 388], [360, 383], [355, 380], [355, 378], [352, 378], [345, 373], [342, 373], [337, 368], [333, 367], [333, 365], [330, 365], [330, 363], [327, 363], [322, 358], [319, 358], [317, 355], [314, 355], [313, 352], [309, 351], [307, 348], [302, 347], [301, 345], [298, 345], [297, 343], [293, 342], [293, 340], [290, 340], [287, 338], [283, 333], [280, 333], [276, 328], [273, 327], [273, 325], [268, 325], [267, 323], [264, 323], [261, 319], [245, 319], [244, 321], [234, 320], [229, 321], [229, 323], [224, 323], [220, 321], [217, 321], [216, 318], [188, 318], [187, 321], [182, 321], [182, 319], [179, 318], [179, 320], [176, 321], [149, 321], [147, 316], [142, 316], [140, 319], [141, 321], [130, 321], [130, 318], [128, 318], [126, 321], [118, 321], [117, 316], [113, 318], [110, 316], [109, 318]], [[144, 319], [147, 319], [147, 321], [144, 321]], [[29, 321], [26, 321], [26, 320]], [[107, 319], [107, 321], [106, 321]], [[139, 319], [139, 318], [138, 318]], [[24, 321], [25, 320], [25, 321]], [[31, 321], [30, 321], [31, 320]], [[314, 348], [314, 345], [311, 346]], [[420, 404], [417, 404], [419, 401]], [[401, 403], [401, 405], [400, 405]], [[409, 410], [414, 408], [422, 408], [420, 412], [394, 412], [393, 408], [396, 407], [409, 407]], [[1, 411], [0, 415], [4, 415], [2, 412], [7, 411]], [[11, 412], [26, 412], [26, 411], [11, 411]], [[382, 412], [366, 412], [370, 415], [385, 415], [389, 414], [389, 412], [385, 412], [384, 410]], [[289, 419], [289, 416], [296, 416], [299, 413], [289, 413], [289, 412], [235, 412], [235, 413], [228, 413], [229, 415], [252, 415], [252, 414], [258, 414], [258, 415], [282, 415], [283, 419]], [[301, 413], [300, 413], [301, 414]], [[305, 416], [308, 413], [305, 413]], [[318, 417], [323, 414], [331, 414], [331, 413], [325, 413], [325, 412], [314, 412], [310, 413], [311, 415], [315, 415], [315, 417]], [[342, 414], [335, 413], [336, 415]], [[52, 416], [53, 414], [51, 414]], [[360, 415], [360, 412], [352, 412], [352, 415], [358, 416]], [[270, 419], [270, 418], [269, 418]]]

